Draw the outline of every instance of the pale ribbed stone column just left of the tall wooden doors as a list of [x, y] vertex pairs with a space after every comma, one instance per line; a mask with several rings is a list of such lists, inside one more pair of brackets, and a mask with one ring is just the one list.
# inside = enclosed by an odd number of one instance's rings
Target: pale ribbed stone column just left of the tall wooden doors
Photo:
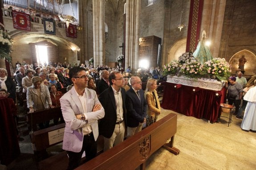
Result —
[[137, 71], [139, 62], [140, 3], [141, 0], [126, 1], [126, 63], [124, 69], [131, 66], [133, 71]]

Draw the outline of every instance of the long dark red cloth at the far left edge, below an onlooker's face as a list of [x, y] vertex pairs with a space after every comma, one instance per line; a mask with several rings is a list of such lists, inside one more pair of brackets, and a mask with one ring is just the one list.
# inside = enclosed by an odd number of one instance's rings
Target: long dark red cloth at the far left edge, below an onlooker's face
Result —
[[8, 165], [19, 154], [20, 146], [16, 133], [16, 124], [12, 116], [12, 99], [0, 99], [0, 160]]

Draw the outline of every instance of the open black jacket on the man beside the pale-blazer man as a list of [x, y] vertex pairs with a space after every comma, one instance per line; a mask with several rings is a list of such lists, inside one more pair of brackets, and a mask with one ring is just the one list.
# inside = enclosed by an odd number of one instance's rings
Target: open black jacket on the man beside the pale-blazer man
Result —
[[[121, 88], [122, 102], [123, 102], [123, 116], [125, 120], [126, 115], [126, 91]], [[99, 95], [99, 101], [105, 110], [105, 116], [99, 122], [99, 134], [102, 134], [105, 138], [110, 138], [114, 132], [114, 128], [117, 122], [117, 107], [114, 97], [114, 91], [110, 86]]]

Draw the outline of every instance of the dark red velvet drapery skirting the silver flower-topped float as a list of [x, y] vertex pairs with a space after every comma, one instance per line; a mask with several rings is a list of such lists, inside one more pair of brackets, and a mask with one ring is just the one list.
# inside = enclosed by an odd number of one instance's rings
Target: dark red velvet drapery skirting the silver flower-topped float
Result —
[[[226, 89], [221, 91], [206, 90], [199, 87], [163, 82], [164, 95], [162, 107], [186, 116], [194, 116], [198, 119], [207, 119], [216, 122], [219, 116], [219, 104], [225, 103]], [[195, 89], [195, 91], [193, 91]], [[216, 93], [219, 96], [216, 96]]]

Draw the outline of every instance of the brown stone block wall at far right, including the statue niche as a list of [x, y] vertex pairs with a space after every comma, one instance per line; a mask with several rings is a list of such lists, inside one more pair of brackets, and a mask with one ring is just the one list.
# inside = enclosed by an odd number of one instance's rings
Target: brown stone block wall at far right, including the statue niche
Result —
[[251, 62], [254, 61], [256, 55], [255, 8], [255, 0], [226, 1], [219, 57], [231, 62], [232, 72], [236, 70], [238, 57], [241, 57], [240, 51], [247, 49], [248, 53], [244, 54], [250, 62], [245, 63], [244, 74], [256, 74], [255, 63]]

